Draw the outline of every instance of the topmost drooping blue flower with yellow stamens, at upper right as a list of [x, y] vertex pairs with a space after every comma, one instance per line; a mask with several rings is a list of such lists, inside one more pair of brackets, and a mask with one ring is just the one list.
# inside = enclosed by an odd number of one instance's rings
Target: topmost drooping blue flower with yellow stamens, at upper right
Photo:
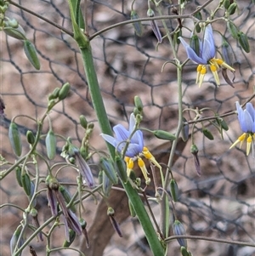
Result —
[[215, 79], [217, 85], [220, 84], [218, 78], [218, 69], [219, 66], [229, 69], [230, 71], [235, 71], [230, 65], [224, 62], [224, 60], [216, 59], [216, 48], [212, 35], [212, 26], [209, 24], [205, 28], [203, 40], [199, 39], [199, 50], [196, 51], [195, 48], [192, 48], [188, 43], [184, 41], [184, 38], [178, 37], [180, 42], [184, 45], [184, 48], [187, 52], [187, 55], [190, 60], [195, 61], [198, 64], [197, 66], [197, 76], [196, 83], [201, 87], [201, 83], [204, 80], [204, 77], [207, 73], [207, 65], [210, 66], [212, 75]]

